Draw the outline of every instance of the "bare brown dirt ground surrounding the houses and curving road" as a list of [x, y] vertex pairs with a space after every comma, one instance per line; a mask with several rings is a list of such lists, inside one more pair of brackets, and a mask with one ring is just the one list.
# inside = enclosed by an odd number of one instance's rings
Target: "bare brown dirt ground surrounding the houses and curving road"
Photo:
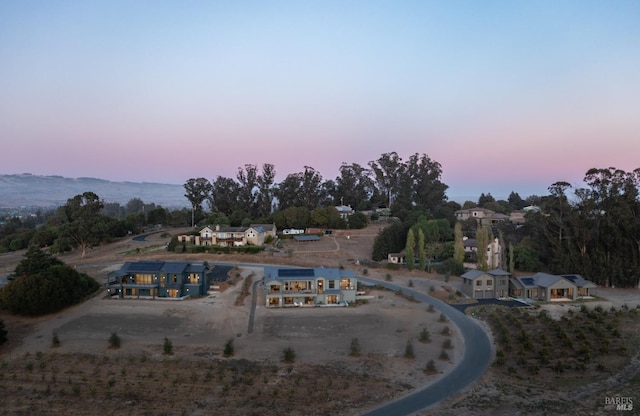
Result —
[[[278, 253], [212, 255], [167, 253], [168, 238], [161, 233], [144, 242], [123, 239], [91, 250], [85, 258], [60, 258], [103, 282], [109, 270], [124, 261], [140, 259], [194, 260], [244, 265], [288, 264], [354, 269], [360, 275], [409, 286], [443, 299], [459, 286], [457, 278], [424, 272], [392, 271], [365, 266], [375, 235], [384, 224], [365, 230], [341, 231], [318, 242], [285, 241]], [[188, 230], [170, 230], [180, 234]], [[0, 255], [0, 274], [15, 268], [21, 253]], [[107, 299], [101, 293], [86, 303], [58, 314], [22, 318], [1, 314], [9, 343], [0, 348], [0, 411], [3, 414], [219, 414], [261, 416], [299, 414], [355, 415], [417, 386], [431, 383], [450, 371], [465, 347], [453, 330], [450, 359], [438, 359], [445, 336], [438, 313], [420, 303], [386, 291], [372, 291], [366, 304], [354, 308], [267, 309], [258, 290], [256, 319], [249, 332], [251, 296], [236, 306], [242, 279], [261, 278], [259, 267], [240, 266], [235, 285], [210, 296], [187, 301]], [[593, 306], [640, 303], [637, 290], [599, 289]], [[557, 317], [571, 305], [545, 306]], [[430, 343], [419, 342], [426, 327]], [[637, 330], [637, 326], [632, 328]], [[53, 333], [61, 345], [52, 348]], [[109, 348], [117, 332], [122, 345]], [[173, 354], [164, 354], [163, 342]], [[357, 338], [359, 356], [350, 356]], [[225, 357], [233, 340], [234, 355]], [[404, 356], [412, 340], [415, 358]], [[295, 362], [282, 361], [285, 348], [295, 351]], [[426, 374], [433, 359], [436, 374]], [[580, 394], [558, 389], [560, 379], [506, 379], [490, 368], [469, 389], [442, 402], [427, 415], [546, 415], [567, 403], [567, 414], [611, 414], [605, 397], [633, 396], [640, 404], [640, 380], [628, 365], [606, 376]], [[624, 373], [629, 369], [628, 374]], [[622, 375], [621, 375], [622, 374]], [[621, 380], [623, 382], [616, 382]], [[613, 381], [611, 381], [613, 380]], [[576, 383], [579, 384], [579, 381]], [[566, 387], [566, 386], [565, 386]], [[585, 395], [585, 391], [590, 394]], [[545, 399], [554, 404], [546, 406]], [[636, 406], [637, 408], [638, 406]], [[596, 410], [597, 408], [597, 410]], [[525, 409], [525, 410], [522, 410]], [[552, 409], [552, 410], [550, 410]]]

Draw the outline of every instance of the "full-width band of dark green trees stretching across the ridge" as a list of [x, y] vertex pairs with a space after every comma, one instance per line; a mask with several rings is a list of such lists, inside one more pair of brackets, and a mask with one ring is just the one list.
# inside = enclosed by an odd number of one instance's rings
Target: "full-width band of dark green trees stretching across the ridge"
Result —
[[[392, 152], [366, 167], [343, 163], [334, 180], [324, 180], [305, 167], [275, 183], [275, 168], [269, 164], [245, 165], [235, 178], [218, 176], [211, 182], [192, 178], [184, 184], [192, 209], [170, 211], [137, 198], [120, 206], [85, 192], [55, 211], [8, 219], [0, 226], [0, 252], [31, 244], [53, 253], [86, 252], [93, 245], [137, 234], [154, 224], [274, 223], [278, 229], [366, 226], [370, 218], [361, 212], [347, 224], [335, 209], [350, 205], [357, 211], [372, 210], [374, 219], [374, 209], [384, 208], [396, 219], [381, 227], [371, 255], [374, 261], [413, 247], [418, 267], [449, 261], [447, 272], [457, 273], [460, 259], [466, 256], [460, 254], [458, 235], [482, 241], [497, 237], [504, 248], [502, 264], [511, 271], [578, 273], [599, 285], [639, 285], [640, 169], [594, 168], [585, 174], [585, 187], [574, 189], [559, 181], [544, 196], [523, 199], [511, 192], [507, 200], [496, 200], [482, 193], [478, 201], [462, 205], [447, 200], [441, 174], [440, 165], [426, 155], [403, 161]], [[460, 230], [454, 231], [457, 210], [483, 207], [509, 214], [525, 206], [539, 209], [528, 212], [523, 225], [499, 223], [485, 236], [478, 235], [477, 223], [471, 219], [460, 222]]]

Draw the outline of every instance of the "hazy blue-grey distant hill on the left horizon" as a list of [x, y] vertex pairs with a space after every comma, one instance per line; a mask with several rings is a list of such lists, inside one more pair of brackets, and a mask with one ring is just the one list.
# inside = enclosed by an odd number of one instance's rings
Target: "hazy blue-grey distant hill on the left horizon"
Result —
[[69, 198], [93, 192], [104, 202], [126, 204], [133, 198], [165, 208], [188, 207], [182, 185], [148, 182], [111, 182], [96, 178], [64, 178], [30, 173], [0, 175], [0, 208], [52, 207]]

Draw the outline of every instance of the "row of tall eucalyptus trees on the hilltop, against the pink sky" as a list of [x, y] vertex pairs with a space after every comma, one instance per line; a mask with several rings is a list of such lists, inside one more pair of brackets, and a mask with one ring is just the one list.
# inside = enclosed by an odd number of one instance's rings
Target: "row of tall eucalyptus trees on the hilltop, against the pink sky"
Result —
[[[280, 183], [275, 183], [275, 175], [271, 164], [247, 164], [238, 168], [235, 178], [218, 176], [211, 182], [189, 179], [184, 187], [193, 207], [193, 223], [206, 217], [204, 201], [208, 201], [211, 213], [223, 215], [231, 224], [266, 220], [276, 212], [288, 212], [284, 215], [291, 219], [288, 223], [300, 223], [292, 218], [311, 215], [329, 205], [350, 205], [358, 210], [387, 207], [404, 219], [416, 210], [437, 212], [447, 202], [442, 168], [424, 154], [416, 153], [405, 162], [395, 152], [385, 153], [366, 167], [343, 163], [334, 180], [323, 179], [311, 166], [288, 174]], [[298, 212], [300, 209], [308, 214]]]

